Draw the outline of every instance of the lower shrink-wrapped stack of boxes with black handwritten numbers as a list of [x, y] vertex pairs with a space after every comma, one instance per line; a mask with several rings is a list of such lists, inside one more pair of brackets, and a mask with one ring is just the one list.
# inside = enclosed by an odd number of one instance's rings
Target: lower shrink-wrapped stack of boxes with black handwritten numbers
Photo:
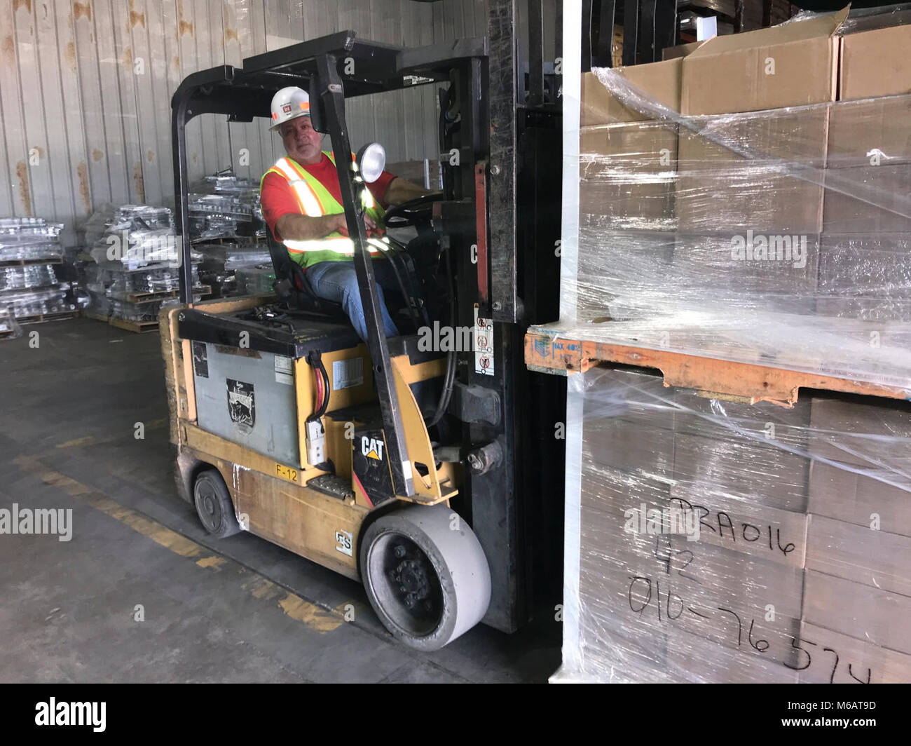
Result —
[[[911, 407], [751, 406], [595, 368], [570, 411], [559, 678], [911, 681]], [[672, 508], [676, 533], [640, 517]]]

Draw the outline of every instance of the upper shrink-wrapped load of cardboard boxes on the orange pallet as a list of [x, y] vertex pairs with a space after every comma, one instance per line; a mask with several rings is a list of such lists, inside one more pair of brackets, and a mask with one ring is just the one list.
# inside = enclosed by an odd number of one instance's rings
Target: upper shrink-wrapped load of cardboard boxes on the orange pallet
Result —
[[582, 77], [561, 333], [911, 388], [911, 26], [845, 16]]

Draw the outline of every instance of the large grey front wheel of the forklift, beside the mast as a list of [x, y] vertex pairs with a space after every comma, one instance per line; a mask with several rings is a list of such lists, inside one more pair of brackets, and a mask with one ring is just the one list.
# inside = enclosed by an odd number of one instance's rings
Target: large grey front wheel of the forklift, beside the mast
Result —
[[363, 533], [360, 558], [371, 606], [410, 648], [443, 648], [481, 621], [490, 604], [484, 550], [445, 505], [385, 513]]

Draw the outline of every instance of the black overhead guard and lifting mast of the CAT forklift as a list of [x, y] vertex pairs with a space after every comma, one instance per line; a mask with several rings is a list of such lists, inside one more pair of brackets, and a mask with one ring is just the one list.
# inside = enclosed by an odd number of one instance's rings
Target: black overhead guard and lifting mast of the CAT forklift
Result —
[[[540, 47], [540, 0], [529, 5], [538, 30], [532, 41]], [[333, 151], [342, 154], [352, 150], [347, 98], [413, 85], [438, 88], [445, 199], [435, 203], [433, 227], [455, 278], [453, 323], [489, 335], [485, 350], [456, 352], [452, 378], [446, 377], [452, 387], [447, 413], [458, 422], [455, 440], [467, 464], [455, 499], [490, 566], [491, 599], [483, 621], [511, 632], [532, 614], [535, 575], [541, 581], [538, 591], [548, 600], [558, 599], [562, 582], [563, 443], [540, 433], [552, 434], [563, 419], [565, 382], [530, 374], [523, 361], [528, 324], [558, 315], [554, 246], [559, 238], [560, 102], [552, 73], [545, 90], [546, 66], [539, 50], [540, 75], [526, 76], [517, 60], [515, 3], [489, 0], [489, 7], [489, 42], [462, 39], [407, 49], [343, 31], [248, 57], [242, 67], [202, 70], [185, 78], [175, 92], [171, 125], [175, 212], [182, 237], [181, 301], [191, 306], [185, 230], [185, 131], [190, 119], [206, 113], [238, 122], [265, 119], [273, 94], [297, 85], [310, 93], [314, 129], [328, 133]], [[352, 58], [356, 74], [347, 75], [344, 70], [352, 66], [345, 63]], [[535, 87], [530, 98], [527, 78]], [[359, 199], [364, 185], [351, 161], [338, 157], [335, 162], [394, 490], [408, 497], [415, 487], [367, 250]], [[523, 295], [530, 305], [523, 303]]]

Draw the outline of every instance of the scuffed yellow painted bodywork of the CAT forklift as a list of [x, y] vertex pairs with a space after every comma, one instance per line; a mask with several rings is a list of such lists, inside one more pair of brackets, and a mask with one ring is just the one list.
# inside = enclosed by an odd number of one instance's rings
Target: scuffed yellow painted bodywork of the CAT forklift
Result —
[[[194, 310], [207, 315], [230, 315], [269, 303], [271, 296], [245, 296], [196, 304]], [[220, 471], [228, 486], [241, 528], [268, 539], [274, 544], [358, 579], [358, 540], [363, 523], [375, 503], [357, 479], [353, 468], [355, 429], [364, 423], [357, 417], [358, 408], [374, 402], [371, 361], [363, 344], [322, 352], [322, 363], [330, 380], [330, 407], [322, 417], [326, 461], [311, 464], [307, 458], [305, 422], [315, 409], [317, 382], [314, 368], [303, 358], [292, 361], [293, 400], [296, 408], [296, 462], [277, 460], [259, 452], [242, 437], [224, 437], [200, 426], [200, 408], [211, 406], [197, 399], [194, 379], [192, 340], [179, 336], [179, 320], [187, 306], [170, 306], [160, 316], [162, 353], [165, 358], [166, 385], [171, 412], [170, 439], [178, 449], [182, 471], [196, 468], [191, 464], [208, 464]], [[220, 354], [236, 355], [248, 360], [266, 361], [255, 352], [240, 347], [217, 346]], [[347, 381], [351, 364], [363, 376]], [[433, 447], [421, 410], [410, 385], [441, 376], [443, 359], [411, 364], [407, 355], [391, 359], [395, 389], [398, 395], [407, 442], [410, 468], [415, 477], [415, 495], [395, 500], [433, 505], [447, 503], [457, 493], [457, 469], [452, 463], [435, 461]], [[271, 361], [269, 362], [271, 365]], [[346, 373], [348, 371], [348, 373]], [[269, 373], [271, 374], [271, 370]], [[279, 375], [277, 372], [276, 375]], [[227, 406], [227, 405], [226, 405]], [[268, 421], [270, 412], [258, 417]], [[384, 452], [385, 449], [375, 449]], [[388, 461], [385, 465], [389, 469]], [[345, 494], [327, 494], [308, 486], [323, 475], [331, 474], [350, 485]], [[185, 482], [189, 479], [184, 476]], [[391, 482], [391, 478], [390, 478]], [[185, 496], [189, 492], [185, 485]], [[394, 501], [388, 501], [394, 502]]]

